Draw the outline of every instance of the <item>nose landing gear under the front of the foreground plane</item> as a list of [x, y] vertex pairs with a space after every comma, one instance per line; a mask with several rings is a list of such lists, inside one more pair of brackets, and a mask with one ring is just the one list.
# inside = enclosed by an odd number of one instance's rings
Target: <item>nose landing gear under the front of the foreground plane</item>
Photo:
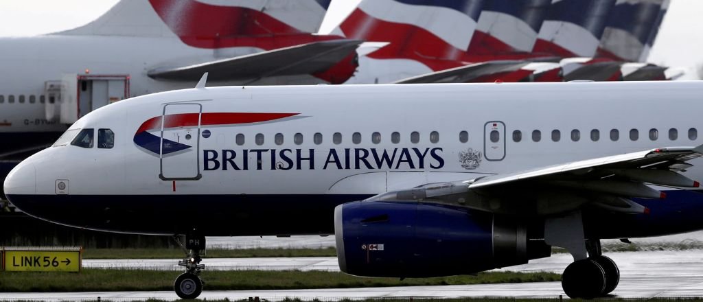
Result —
[[205, 270], [205, 264], [200, 264], [200, 252], [205, 251], [205, 236], [199, 235], [195, 230], [186, 235], [186, 247], [183, 247], [178, 237], [174, 236], [176, 242], [181, 246], [186, 253], [186, 258], [178, 262], [178, 265], [186, 268], [186, 273], [179, 275], [174, 282], [174, 291], [176, 295], [183, 299], [193, 299], [200, 296], [202, 287], [205, 282], [202, 282], [200, 270]]

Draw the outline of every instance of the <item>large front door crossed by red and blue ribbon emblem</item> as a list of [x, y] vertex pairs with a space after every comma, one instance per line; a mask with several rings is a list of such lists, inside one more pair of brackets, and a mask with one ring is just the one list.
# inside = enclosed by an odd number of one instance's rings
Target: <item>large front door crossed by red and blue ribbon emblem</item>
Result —
[[162, 180], [198, 180], [202, 105], [164, 105], [159, 154]]

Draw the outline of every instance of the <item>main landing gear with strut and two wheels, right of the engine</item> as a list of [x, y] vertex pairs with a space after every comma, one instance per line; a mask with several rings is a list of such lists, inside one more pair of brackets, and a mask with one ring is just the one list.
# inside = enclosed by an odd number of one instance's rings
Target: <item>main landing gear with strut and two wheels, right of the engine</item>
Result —
[[610, 294], [617, 287], [620, 270], [612, 259], [602, 256], [600, 239], [583, 239], [581, 212], [548, 218], [544, 237], [547, 244], [564, 247], [574, 256], [562, 274], [567, 296], [590, 299]]

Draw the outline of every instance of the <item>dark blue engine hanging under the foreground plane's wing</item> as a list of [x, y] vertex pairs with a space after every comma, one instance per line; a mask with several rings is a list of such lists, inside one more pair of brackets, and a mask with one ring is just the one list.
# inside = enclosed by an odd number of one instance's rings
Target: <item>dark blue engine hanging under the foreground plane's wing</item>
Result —
[[[335, 237], [340, 269], [366, 277], [465, 275], [550, 253], [543, 242], [529, 242], [526, 228], [510, 219], [418, 202], [337, 206]], [[528, 245], [535, 247], [531, 254]]]

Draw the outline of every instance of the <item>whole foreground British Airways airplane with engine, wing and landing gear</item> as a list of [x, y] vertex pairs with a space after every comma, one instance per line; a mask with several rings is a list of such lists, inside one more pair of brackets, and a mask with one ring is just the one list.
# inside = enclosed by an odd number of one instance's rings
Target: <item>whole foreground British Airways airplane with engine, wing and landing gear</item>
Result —
[[[4, 182], [37, 218], [204, 236], [335, 234], [342, 271], [476, 273], [564, 247], [571, 297], [613, 291], [600, 239], [703, 229], [703, 82], [230, 86], [86, 114]], [[695, 146], [695, 147], [686, 147]], [[616, 292], [617, 294], [617, 292]]]

